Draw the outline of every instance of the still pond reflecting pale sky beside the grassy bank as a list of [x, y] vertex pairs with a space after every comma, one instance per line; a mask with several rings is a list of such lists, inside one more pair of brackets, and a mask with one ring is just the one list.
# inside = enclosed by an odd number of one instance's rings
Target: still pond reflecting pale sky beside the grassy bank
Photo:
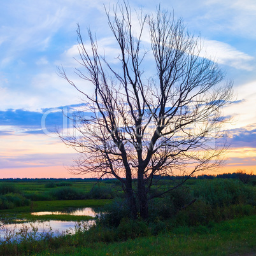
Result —
[[[41, 211], [31, 213], [32, 215], [76, 215], [96, 217], [97, 212], [92, 208], [80, 208], [66, 211]], [[23, 222], [17, 224], [3, 224], [0, 222], [0, 243], [6, 240], [20, 241], [22, 238], [40, 239], [47, 236], [59, 236], [60, 234], [74, 234], [78, 229], [89, 229], [95, 220], [74, 221], [47, 220]]]

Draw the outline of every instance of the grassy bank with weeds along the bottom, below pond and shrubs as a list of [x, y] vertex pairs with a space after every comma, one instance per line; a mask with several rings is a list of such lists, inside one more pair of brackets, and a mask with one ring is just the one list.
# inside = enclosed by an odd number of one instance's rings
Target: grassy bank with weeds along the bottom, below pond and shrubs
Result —
[[[245, 255], [255, 253], [256, 216], [196, 227], [175, 227], [158, 236], [98, 242], [103, 232], [78, 231], [73, 236], [0, 246], [1, 255]], [[115, 235], [115, 232], [112, 231]], [[111, 236], [111, 231], [108, 231]], [[97, 236], [97, 237], [96, 237]], [[106, 234], [105, 234], [106, 236]], [[111, 239], [111, 238], [110, 238]]]

